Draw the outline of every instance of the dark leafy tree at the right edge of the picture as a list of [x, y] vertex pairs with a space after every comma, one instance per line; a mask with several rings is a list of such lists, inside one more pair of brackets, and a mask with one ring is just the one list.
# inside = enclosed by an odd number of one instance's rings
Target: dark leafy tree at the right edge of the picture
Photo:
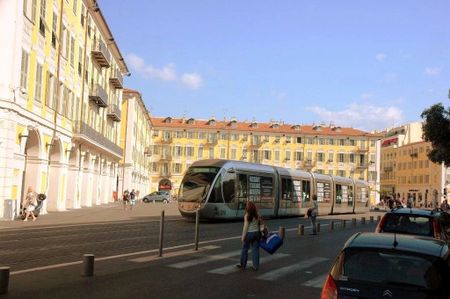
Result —
[[450, 107], [446, 110], [442, 103], [434, 104], [425, 109], [421, 117], [424, 119], [423, 138], [432, 146], [428, 158], [450, 167]]

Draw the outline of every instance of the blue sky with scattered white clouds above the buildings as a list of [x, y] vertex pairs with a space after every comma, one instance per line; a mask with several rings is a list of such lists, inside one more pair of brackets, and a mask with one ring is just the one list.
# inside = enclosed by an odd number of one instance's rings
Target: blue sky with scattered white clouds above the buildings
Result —
[[449, 106], [448, 0], [100, 0], [155, 117], [365, 131]]

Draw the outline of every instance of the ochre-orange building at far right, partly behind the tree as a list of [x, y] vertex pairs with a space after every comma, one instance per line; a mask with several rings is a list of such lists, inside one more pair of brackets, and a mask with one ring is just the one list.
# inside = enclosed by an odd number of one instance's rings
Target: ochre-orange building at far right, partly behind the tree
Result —
[[437, 207], [445, 198], [449, 178], [444, 165], [428, 159], [430, 149], [431, 143], [422, 140], [421, 122], [388, 130], [381, 142], [382, 196], [405, 202], [412, 198], [417, 207]]

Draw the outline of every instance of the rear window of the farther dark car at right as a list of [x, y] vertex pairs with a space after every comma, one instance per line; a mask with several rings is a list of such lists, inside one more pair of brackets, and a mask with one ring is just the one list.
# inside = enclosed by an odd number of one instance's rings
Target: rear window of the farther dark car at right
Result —
[[409, 214], [388, 214], [382, 231], [433, 236], [432, 218]]

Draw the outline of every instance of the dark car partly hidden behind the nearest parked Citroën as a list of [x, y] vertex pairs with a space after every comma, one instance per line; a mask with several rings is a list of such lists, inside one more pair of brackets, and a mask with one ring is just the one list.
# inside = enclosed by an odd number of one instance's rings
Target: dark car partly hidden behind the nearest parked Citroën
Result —
[[442, 210], [393, 209], [384, 214], [375, 232], [429, 236], [449, 243], [450, 214]]

